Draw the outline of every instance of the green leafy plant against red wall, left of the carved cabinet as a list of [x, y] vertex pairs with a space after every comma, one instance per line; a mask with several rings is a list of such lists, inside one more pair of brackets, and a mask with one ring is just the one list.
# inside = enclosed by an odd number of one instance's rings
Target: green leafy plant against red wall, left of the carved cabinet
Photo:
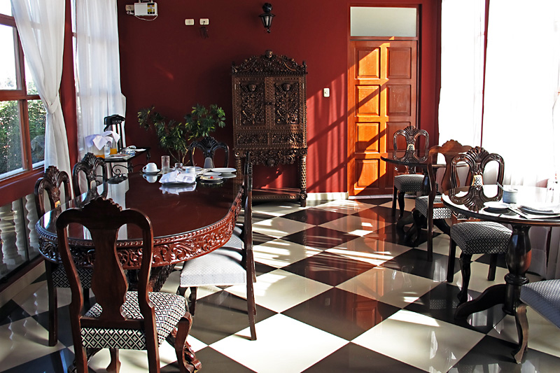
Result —
[[209, 136], [216, 126], [225, 126], [225, 112], [221, 107], [212, 104], [209, 108], [197, 104], [193, 111], [185, 115], [186, 122], [168, 120], [151, 108], [142, 108], [138, 112], [138, 122], [144, 129], [154, 129], [160, 146], [169, 152], [175, 162], [185, 163], [188, 154], [188, 140]]

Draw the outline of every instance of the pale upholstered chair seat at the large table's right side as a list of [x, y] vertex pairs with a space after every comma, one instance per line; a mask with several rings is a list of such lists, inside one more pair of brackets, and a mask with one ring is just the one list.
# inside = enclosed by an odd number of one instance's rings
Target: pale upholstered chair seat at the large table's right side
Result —
[[232, 234], [231, 239], [221, 248], [183, 264], [181, 288], [246, 283], [243, 255], [243, 241], [237, 234]]

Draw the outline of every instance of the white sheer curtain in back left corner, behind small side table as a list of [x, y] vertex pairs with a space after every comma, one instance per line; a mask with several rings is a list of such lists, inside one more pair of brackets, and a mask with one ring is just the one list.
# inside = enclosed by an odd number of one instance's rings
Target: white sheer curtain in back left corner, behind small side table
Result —
[[125, 116], [125, 97], [120, 91], [117, 1], [74, 1], [78, 147], [83, 157], [95, 150], [85, 146], [85, 136], [101, 134], [106, 116]]

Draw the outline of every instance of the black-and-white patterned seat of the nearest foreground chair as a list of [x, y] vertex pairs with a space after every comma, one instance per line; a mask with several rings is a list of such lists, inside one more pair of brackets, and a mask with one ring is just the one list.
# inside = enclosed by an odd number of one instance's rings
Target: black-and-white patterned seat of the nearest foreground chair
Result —
[[[155, 328], [158, 330], [158, 344], [172, 332], [179, 320], [186, 314], [185, 298], [170, 293], [148, 293], [155, 314]], [[123, 304], [123, 314], [127, 318], [143, 318], [138, 305], [138, 293], [129, 291]], [[85, 316], [99, 317], [102, 307], [99, 304], [87, 311]], [[86, 348], [146, 349], [143, 330], [82, 328], [83, 346]]]

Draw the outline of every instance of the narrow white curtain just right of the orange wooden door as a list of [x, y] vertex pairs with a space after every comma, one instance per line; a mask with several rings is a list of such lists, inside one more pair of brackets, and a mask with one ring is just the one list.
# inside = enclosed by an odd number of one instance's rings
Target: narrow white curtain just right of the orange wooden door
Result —
[[483, 72], [484, 0], [443, 0], [440, 144], [480, 145]]

